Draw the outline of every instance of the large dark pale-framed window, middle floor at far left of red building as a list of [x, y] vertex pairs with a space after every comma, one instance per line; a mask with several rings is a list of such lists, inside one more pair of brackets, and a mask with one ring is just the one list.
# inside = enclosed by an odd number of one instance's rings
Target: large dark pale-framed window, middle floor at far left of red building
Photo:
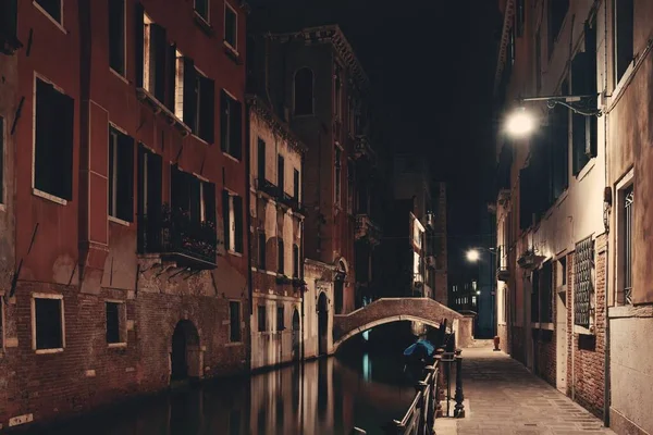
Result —
[[36, 79], [34, 187], [73, 199], [73, 120], [75, 102], [49, 83]]

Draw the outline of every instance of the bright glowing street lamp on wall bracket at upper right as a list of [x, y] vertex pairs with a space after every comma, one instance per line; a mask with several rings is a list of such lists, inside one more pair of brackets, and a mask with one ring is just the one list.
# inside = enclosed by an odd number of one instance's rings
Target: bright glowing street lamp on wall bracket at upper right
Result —
[[596, 95], [581, 96], [549, 96], [549, 97], [528, 97], [518, 98], [519, 107], [515, 109], [506, 119], [506, 132], [513, 137], [523, 137], [530, 135], [537, 126], [535, 116], [526, 110], [525, 102], [546, 101], [546, 107], [553, 109], [556, 104], [564, 105], [574, 113], [583, 116], [601, 116], [603, 111], [596, 109]]

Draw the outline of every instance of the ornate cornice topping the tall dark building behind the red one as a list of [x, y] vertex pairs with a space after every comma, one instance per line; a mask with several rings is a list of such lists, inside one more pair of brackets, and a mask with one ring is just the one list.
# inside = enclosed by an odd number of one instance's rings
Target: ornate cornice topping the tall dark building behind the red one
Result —
[[[321, 35], [322, 33], [332, 33], [331, 35]], [[269, 33], [268, 36], [272, 38], [288, 38], [288, 39], [299, 39], [303, 38], [306, 41], [310, 40], [311, 35], [317, 35], [318, 40], [328, 40], [333, 47], [336, 49], [338, 54], [343, 58], [345, 62], [348, 63], [349, 69], [354, 72], [354, 75], [357, 75], [361, 85], [366, 88], [370, 87], [370, 79], [362, 67], [362, 64], [356, 57], [356, 52], [354, 48], [345, 37], [345, 34], [340, 28], [337, 24], [329, 24], [323, 26], [316, 27], [304, 27], [297, 32], [287, 32], [287, 33]]]

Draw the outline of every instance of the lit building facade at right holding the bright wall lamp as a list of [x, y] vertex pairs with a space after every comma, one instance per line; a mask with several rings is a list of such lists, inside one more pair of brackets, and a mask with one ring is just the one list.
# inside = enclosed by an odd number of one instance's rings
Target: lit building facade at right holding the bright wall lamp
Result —
[[[518, 97], [593, 95], [607, 1], [501, 0], [497, 119]], [[605, 415], [605, 119], [526, 103], [528, 137], [497, 134], [496, 320], [502, 349]]]

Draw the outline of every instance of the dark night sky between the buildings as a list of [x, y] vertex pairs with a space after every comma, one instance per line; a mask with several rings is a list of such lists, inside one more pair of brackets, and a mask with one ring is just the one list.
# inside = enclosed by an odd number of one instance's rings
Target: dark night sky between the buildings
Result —
[[[338, 24], [380, 103], [384, 146], [423, 153], [449, 183], [449, 268], [480, 233], [493, 167], [495, 0], [249, 0], [251, 28]], [[484, 172], [484, 174], [483, 174]]]

